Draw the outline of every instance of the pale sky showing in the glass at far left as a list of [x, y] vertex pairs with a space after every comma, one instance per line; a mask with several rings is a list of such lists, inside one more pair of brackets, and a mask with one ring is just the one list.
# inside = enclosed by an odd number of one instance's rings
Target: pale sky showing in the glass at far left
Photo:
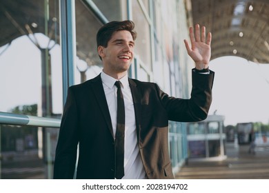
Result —
[[[44, 37], [44, 36], [43, 36]], [[0, 48], [0, 111], [9, 112], [17, 105], [41, 105], [41, 53], [28, 37], [12, 41], [4, 52]], [[62, 112], [61, 53], [59, 45], [52, 54], [53, 112]], [[56, 56], [56, 57], [55, 57]]]

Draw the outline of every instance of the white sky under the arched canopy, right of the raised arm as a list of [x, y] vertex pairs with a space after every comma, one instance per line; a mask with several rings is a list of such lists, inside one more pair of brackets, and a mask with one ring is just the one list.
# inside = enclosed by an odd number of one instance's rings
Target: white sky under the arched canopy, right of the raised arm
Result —
[[269, 123], [269, 64], [240, 57], [210, 61], [215, 72], [210, 114], [226, 116], [225, 125]]

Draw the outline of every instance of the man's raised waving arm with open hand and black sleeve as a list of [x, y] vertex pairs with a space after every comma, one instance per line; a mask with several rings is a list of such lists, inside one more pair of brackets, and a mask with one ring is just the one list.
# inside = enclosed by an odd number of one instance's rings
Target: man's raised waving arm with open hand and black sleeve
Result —
[[[171, 121], [201, 121], [206, 119], [210, 104], [212, 102], [212, 85], [215, 73], [208, 70], [211, 56], [212, 35], [209, 32], [206, 39], [206, 28], [195, 26], [195, 32], [190, 27], [191, 47], [186, 41], [186, 49], [190, 57], [195, 61], [195, 69], [192, 70], [192, 92], [190, 99], [176, 99], [161, 92], [161, 100], [168, 112], [168, 119]], [[196, 73], [208, 71], [208, 75]]]

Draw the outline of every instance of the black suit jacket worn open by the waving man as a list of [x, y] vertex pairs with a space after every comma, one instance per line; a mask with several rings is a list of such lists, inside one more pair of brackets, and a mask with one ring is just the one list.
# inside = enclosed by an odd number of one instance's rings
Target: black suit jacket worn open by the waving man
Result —
[[[214, 72], [192, 71], [190, 99], [177, 99], [156, 83], [129, 79], [137, 141], [148, 179], [173, 179], [168, 152], [168, 120], [206, 119]], [[114, 179], [114, 138], [101, 76], [68, 89], [54, 161], [54, 179], [72, 179], [79, 143], [77, 179]]]

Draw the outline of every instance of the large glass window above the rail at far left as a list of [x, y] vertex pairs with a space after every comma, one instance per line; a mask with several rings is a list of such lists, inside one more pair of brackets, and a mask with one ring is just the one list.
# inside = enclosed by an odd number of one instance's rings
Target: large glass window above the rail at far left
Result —
[[[0, 111], [62, 112], [58, 1], [1, 1]], [[26, 112], [27, 113], [27, 112]]]

